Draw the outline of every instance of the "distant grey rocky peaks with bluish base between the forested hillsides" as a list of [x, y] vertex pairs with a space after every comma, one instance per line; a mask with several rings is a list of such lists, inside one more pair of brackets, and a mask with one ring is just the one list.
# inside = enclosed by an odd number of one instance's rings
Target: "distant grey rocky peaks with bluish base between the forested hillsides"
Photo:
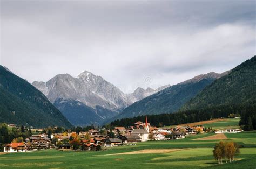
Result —
[[102, 124], [117, 116], [126, 107], [157, 91], [137, 88], [131, 94], [124, 94], [101, 76], [84, 71], [77, 77], [59, 74], [47, 82], [34, 81], [38, 90], [53, 103], [73, 125]]

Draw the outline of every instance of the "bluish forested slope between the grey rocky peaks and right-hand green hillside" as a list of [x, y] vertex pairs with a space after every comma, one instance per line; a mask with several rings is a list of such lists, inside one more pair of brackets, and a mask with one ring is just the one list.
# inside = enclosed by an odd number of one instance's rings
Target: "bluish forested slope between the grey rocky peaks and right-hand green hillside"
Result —
[[114, 119], [177, 111], [188, 100], [196, 96], [206, 86], [210, 85], [215, 79], [220, 78], [224, 74], [227, 73], [217, 74], [211, 72], [173, 85], [133, 103], [130, 107], [124, 109], [121, 114], [114, 117]]

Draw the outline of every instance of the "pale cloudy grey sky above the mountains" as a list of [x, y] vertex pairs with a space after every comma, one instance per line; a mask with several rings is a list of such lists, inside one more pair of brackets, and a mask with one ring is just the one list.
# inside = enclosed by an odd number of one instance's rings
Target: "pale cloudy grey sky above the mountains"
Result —
[[0, 65], [33, 81], [84, 70], [131, 93], [256, 54], [256, 1], [0, 0]]

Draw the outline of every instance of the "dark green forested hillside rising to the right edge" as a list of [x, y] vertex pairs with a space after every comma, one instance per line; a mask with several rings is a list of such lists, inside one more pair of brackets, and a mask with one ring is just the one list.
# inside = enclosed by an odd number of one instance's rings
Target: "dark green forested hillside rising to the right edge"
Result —
[[203, 109], [219, 105], [255, 104], [256, 56], [207, 86], [180, 110]]

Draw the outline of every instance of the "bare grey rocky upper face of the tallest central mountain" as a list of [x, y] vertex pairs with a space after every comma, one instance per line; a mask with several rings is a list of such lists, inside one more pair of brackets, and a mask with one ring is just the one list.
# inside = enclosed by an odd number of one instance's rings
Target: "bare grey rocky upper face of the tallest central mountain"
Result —
[[120, 111], [132, 102], [116, 86], [100, 76], [84, 71], [76, 78], [69, 74], [56, 75], [48, 82], [33, 82], [54, 103], [58, 98], [71, 99], [96, 108], [100, 105], [112, 111]]

